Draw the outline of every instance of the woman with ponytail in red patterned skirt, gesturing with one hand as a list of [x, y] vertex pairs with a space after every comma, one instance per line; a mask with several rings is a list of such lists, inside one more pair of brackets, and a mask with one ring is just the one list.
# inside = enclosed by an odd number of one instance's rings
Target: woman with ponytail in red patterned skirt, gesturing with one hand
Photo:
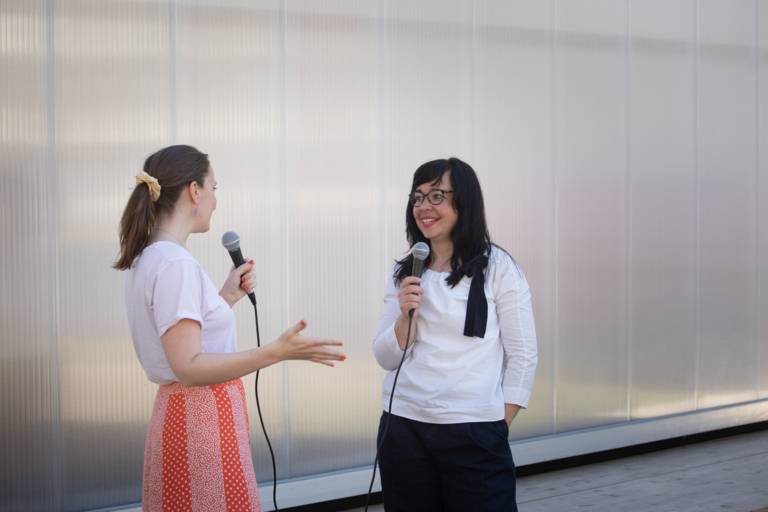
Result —
[[208, 156], [191, 146], [150, 155], [120, 221], [125, 301], [136, 354], [159, 385], [144, 452], [143, 508], [261, 510], [241, 377], [300, 359], [333, 366], [339, 341], [304, 338], [302, 320], [237, 351], [232, 307], [254, 288], [253, 260], [221, 289], [187, 250], [216, 209]]

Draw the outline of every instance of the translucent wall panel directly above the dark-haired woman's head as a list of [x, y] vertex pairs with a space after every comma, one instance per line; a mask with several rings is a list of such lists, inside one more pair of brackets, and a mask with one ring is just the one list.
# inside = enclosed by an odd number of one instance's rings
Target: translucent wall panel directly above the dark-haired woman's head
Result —
[[472, 2], [385, 2], [382, 14], [382, 165], [388, 262], [401, 258], [416, 168], [436, 158], [472, 161]]

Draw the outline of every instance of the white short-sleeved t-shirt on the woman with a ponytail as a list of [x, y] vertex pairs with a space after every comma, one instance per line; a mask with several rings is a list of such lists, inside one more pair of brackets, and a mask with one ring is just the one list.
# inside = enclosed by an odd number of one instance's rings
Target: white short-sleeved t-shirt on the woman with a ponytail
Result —
[[158, 241], [126, 273], [125, 305], [136, 355], [157, 384], [177, 381], [160, 336], [188, 318], [200, 324], [202, 351], [235, 352], [235, 314], [184, 247]]

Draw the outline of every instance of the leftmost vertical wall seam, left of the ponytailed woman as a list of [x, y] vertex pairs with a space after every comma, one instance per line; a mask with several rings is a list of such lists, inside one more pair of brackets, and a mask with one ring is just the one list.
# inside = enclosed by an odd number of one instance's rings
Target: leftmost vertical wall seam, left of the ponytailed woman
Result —
[[53, 473], [51, 501], [55, 510], [63, 509], [62, 489], [64, 486], [64, 434], [62, 431], [61, 417], [61, 372], [59, 365], [59, 333], [61, 332], [61, 280], [59, 268], [59, 230], [58, 230], [58, 212], [60, 208], [59, 201], [59, 169], [56, 161], [56, 50], [55, 50], [55, 17], [54, 2], [47, 0], [45, 3], [45, 24], [46, 24], [46, 66], [48, 75], [46, 77], [46, 97], [47, 97], [47, 116], [48, 116], [48, 207], [46, 209], [46, 228], [48, 231], [48, 241], [51, 247], [51, 256], [48, 258], [48, 272], [53, 289], [48, 289], [49, 295], [49, 344], [51, 358], [49, 362], [49, 385], [51, 386], [51, 449], [53, 452], [53, 463], [51, 464]]

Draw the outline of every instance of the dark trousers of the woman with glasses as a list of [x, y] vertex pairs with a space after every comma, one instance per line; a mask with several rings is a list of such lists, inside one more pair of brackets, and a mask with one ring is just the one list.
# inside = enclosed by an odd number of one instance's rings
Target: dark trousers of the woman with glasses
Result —
[[387, 512], [517, 512], [504, 420], [422, 423], [385, 412], [378, 444]]

